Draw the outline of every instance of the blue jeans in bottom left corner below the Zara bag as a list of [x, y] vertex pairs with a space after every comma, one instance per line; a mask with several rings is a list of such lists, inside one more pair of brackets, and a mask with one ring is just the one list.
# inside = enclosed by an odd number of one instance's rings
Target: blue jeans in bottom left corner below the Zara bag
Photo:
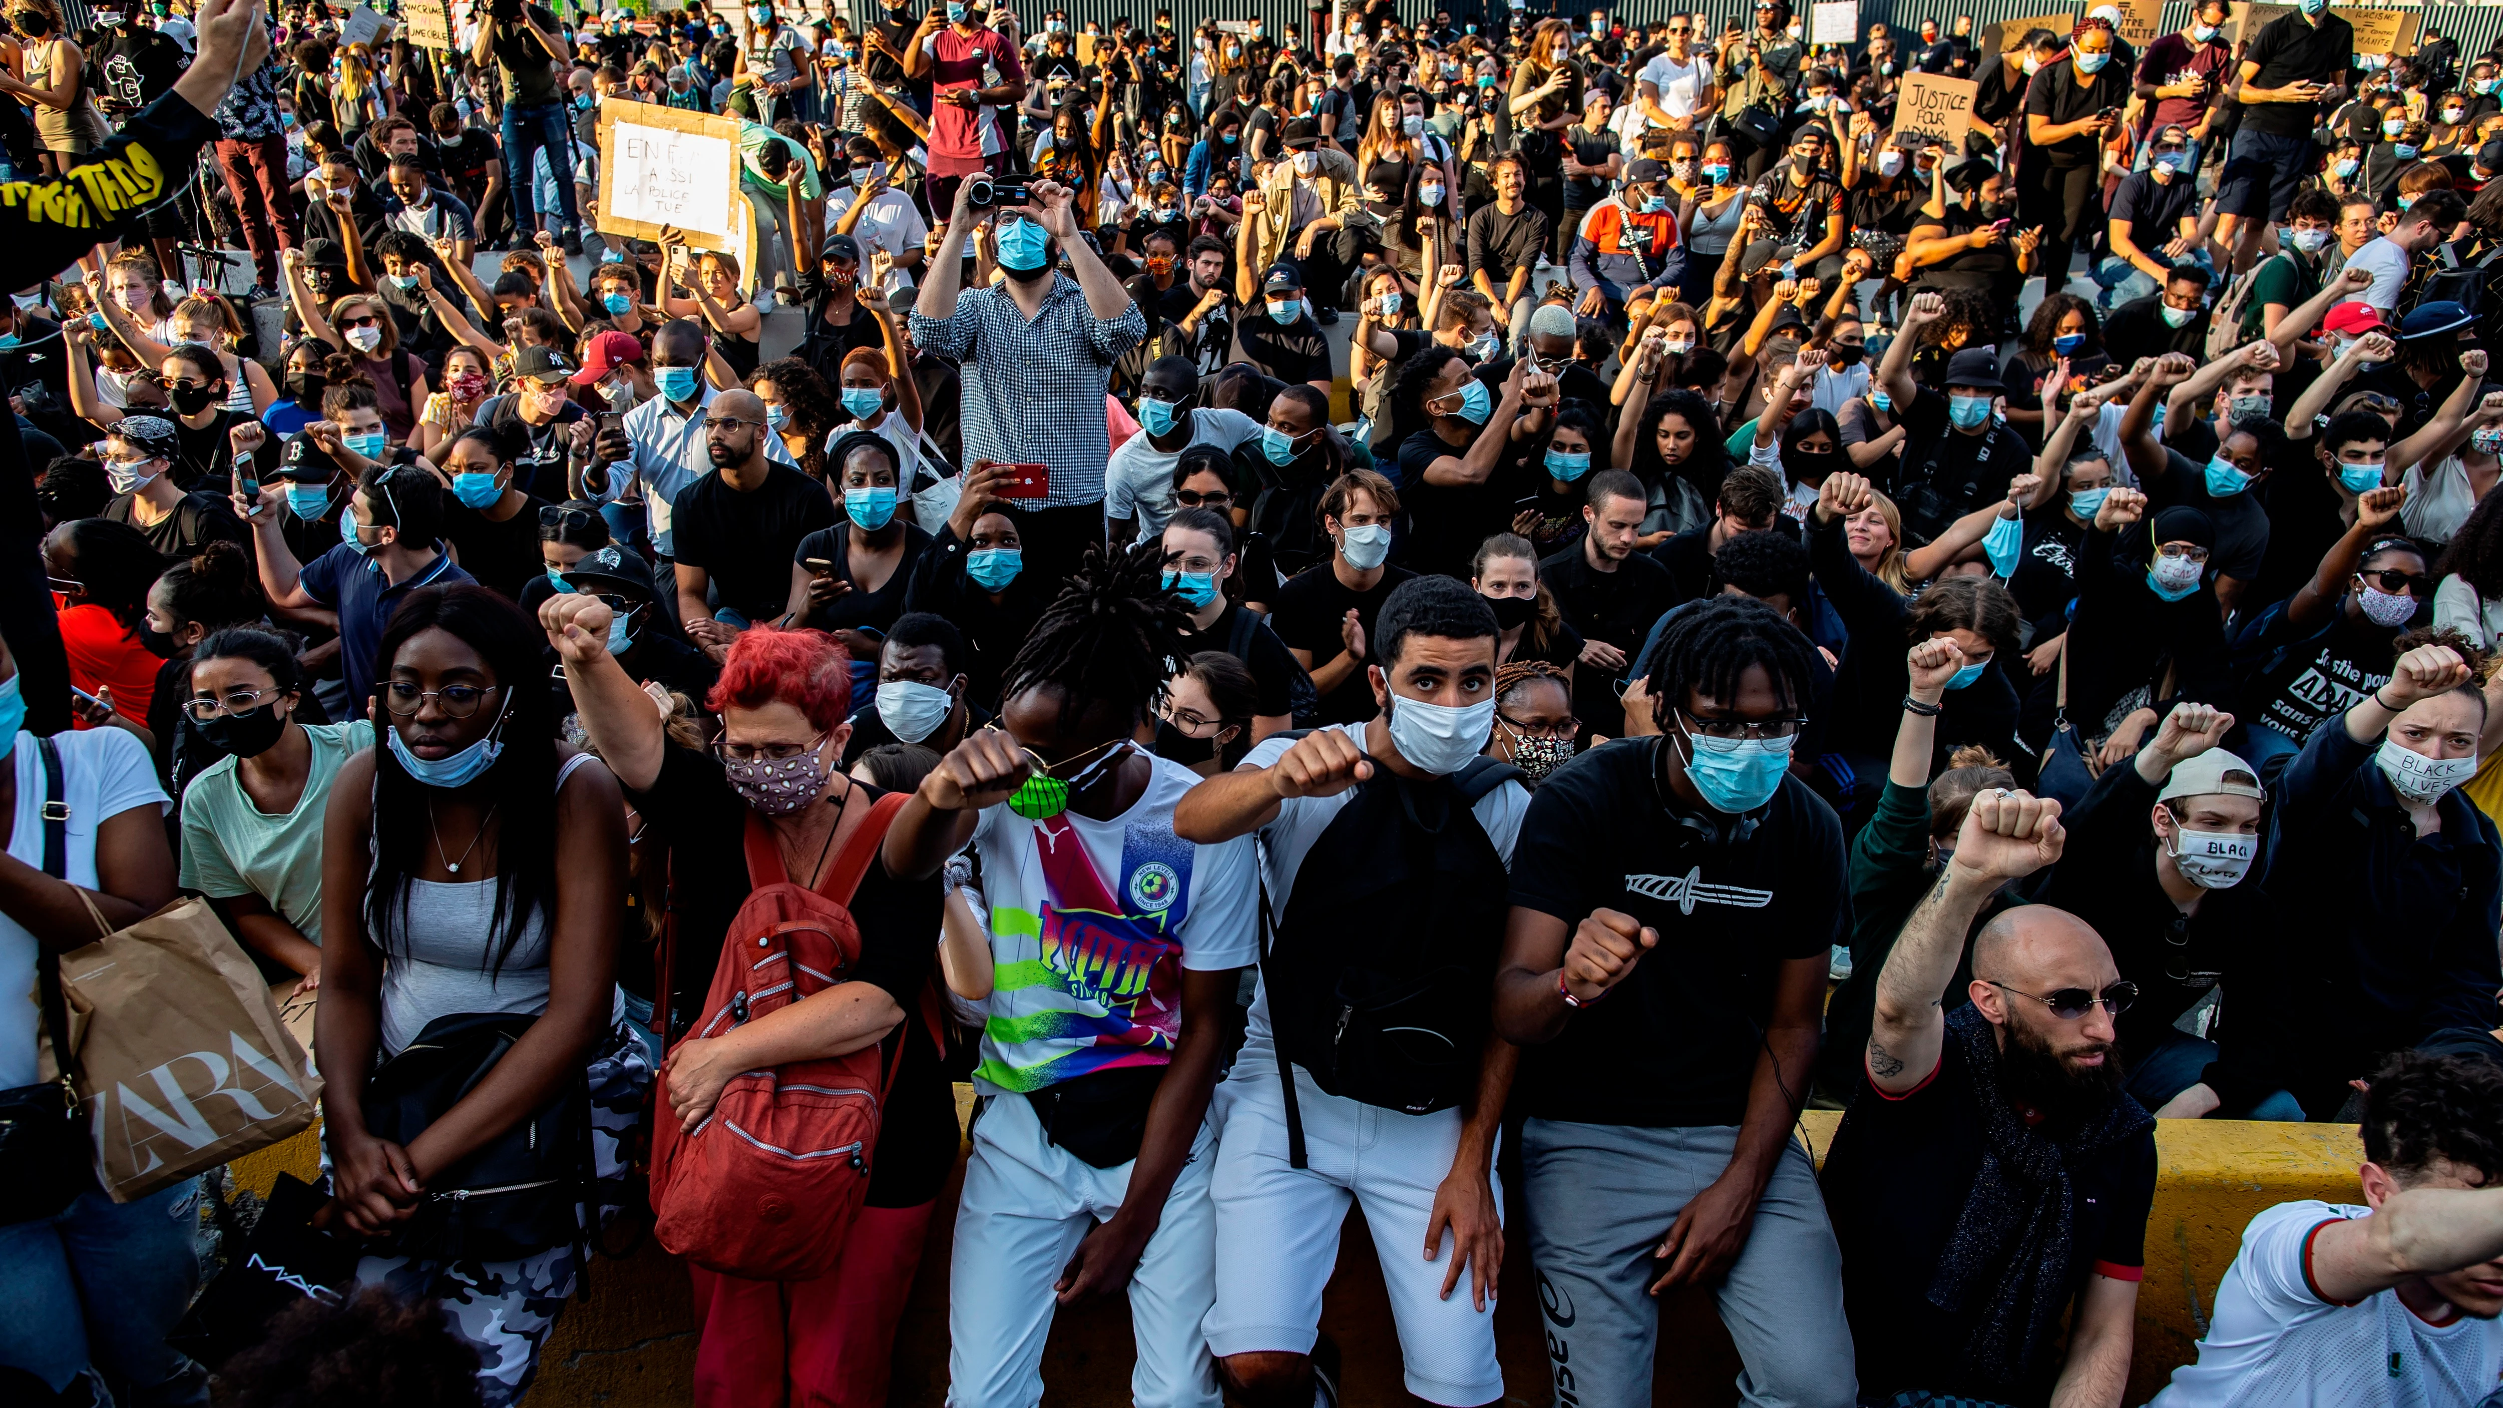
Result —
[[208, 1403], [208, 1370], [165, 1345], [200, 1285], [200, 1180], [135, 1203], [80, 1193], [50, 1218], [0, 1225], [0, 1365], [55, 1393], [100, 1373], [130, 1408]]

